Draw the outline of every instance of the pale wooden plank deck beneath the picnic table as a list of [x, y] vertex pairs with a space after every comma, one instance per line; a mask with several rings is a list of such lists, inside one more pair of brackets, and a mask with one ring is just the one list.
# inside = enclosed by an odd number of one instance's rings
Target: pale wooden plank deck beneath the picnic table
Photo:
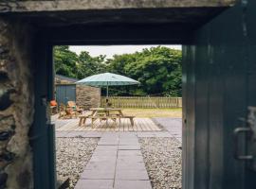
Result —
[[[58, 120], [57, 120], [58, 121]], [[84, 131], [159, 131], [161, 130], [150, 118], [135, 118], [135, 126], [132, 127], [129, 119], [122, 119], [115, 124], [114, 121], [109, 120], [108, 126], [105, 121], [97, 120], [94, 122], [94, 128], [91, 126], [91, 121], [86, 120], [86, 125], [79, 126], [79, 119], [66, 120], [63, 127], [57, 129], [64, 130], [84, 130]]]

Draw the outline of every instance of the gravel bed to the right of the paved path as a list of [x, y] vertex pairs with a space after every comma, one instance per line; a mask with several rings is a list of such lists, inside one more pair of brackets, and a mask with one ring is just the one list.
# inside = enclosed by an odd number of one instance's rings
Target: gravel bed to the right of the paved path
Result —
[[181, 144], [174, 138], [139, 138], [153, 189], [181, 189]]

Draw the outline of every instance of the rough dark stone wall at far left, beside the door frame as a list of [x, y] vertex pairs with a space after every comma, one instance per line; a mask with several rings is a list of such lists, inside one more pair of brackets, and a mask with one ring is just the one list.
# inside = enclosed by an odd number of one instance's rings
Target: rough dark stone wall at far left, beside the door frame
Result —
[[32, 188], [32, 33], [0, 18], [0, 188]]

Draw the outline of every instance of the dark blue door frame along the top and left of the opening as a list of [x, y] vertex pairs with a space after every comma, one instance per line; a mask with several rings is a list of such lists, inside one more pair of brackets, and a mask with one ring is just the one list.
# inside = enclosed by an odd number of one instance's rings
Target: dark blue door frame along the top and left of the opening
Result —
[[[72, 27], [66, 28], [41, 28], [37, 33], [37, 39], [41, 39], [40, 45], [38, 45], [37, 60], [40, 60], [38, 67], [36, 68], [35, 75], [36, 86], [35, 87], [35, 123], [33, 125], [33, 133], [36, 135], [40, 132], [44, 134], [41, 135], [40, 140], [37, 140], [36, 146], [33, 147], [34, 150], [34, 184], [35, 188], [56, 188], [56, 167], [55, 167], [55, 129], [54, 125], [49, 123], [49, 115], [47, 114], [47, 106], [42, 103], [42, 98], [46, 98], [46, 102], [49, 102], [54, 98], [54, 64], [53, 64], [53, 46], [54, 45], [106, 45], [106, 44], [190, 44], [192, 43], [193, 32], [189, 33], [188, 31], [184, 32], [174, 32], [173, 28], [166, 25], [159, 26], [148, 26], [147, 30], [141, 26], [125, 26], [128, 27], [128, 30], [124, 31], [122, 26], [111, 26], [111, 33], [108, 26], [103, 26], [106, 31], [101, 31], [104, 33], [101, 39], [97, 38], [99, 35], [99, 28], [91, 26], [91, 29], [88, 29], [88, 26], [82, 26], [77, 29]], [[85, 36], [84, 31], [88, 31], [88, 34]], [[76, 35], [78, 32], [78, 35]], [[130, 33], [129, 33], [130, 32]], [[147, 33], [148, 32], [148, 33]], [[161, 33], [161, 35], [159, 35]], [[170, 35], [173, 33], [174, 35]], [[127, 38], [128, 36], [128, 38]], [[191, 58], [192, 59], [192, 58]], [[187, 68], [186, 68], [187, 69]], [[189, 77], [188, 77], [189, 78]], [[187, 79], [188, 79], [187, 78]], [[40, 83], [43, 83], [44, 89], [38, 90]], [[183, 84], [183, 86], [186, 83]], [[185, 90], [185, 88], [184, 88]], [[188, 89], [187, 89], [188, 90]], [[183, 97], [185, 95], [183, 94]], [[184, 98], [185, 100], [186, 98]], [[184, 101], [185, 105], [188, 103], [194, 103], [190, 99]], [[188, 120], [188, 111], [186, 107], [183, 111], [183, 123], [187, 123]], [[45, 110], [45, 112], [44, 112]], [[191, 110], [192, 112], [193, 110]], [[40, 115], [39, 113], [43, 112]], [[44, 115], [46, 115], [44, 117]], [[43, 126], [45, 123], [45, 126]], [[184, 132], [186, 125], [183, 125], [183, 140], [187, 143], [187, 138], [184, 137], [186, 133]], [[195, 133], [192, 133], [195, 134]], [[34, 142], [35, 143], [35, 142]], [[193, 150], [193, 144], [184, 145], [182, 147], [183, 153], [183, 166], [185, 164], [184, 156], [189, 156], [190, 150]], [[188, 146], [189, 145], [189, 146]], [[33, 146], [33, 145], [32, 145]], [[42, 157], [43, 156], [43, 157]], [[190, 156], [192, 161], [194, 156]], [[193, 163], [192, 163], [193, 164]], [[183, 169], [186, 167], [183, 167]], [[193, 181], [193, 172], [190, 169], [190, 172], [184, 172], [184, 177]], [[183, 182], [186, 180], [183, 180]], [[192, 182], [190, 182], [192, 183]]]

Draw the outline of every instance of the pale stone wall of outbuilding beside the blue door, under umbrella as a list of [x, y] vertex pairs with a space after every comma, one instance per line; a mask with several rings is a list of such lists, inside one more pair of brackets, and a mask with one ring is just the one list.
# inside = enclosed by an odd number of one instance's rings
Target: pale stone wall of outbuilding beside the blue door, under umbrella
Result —
[[100, 107], [101, 89], [85, 85], [77, 85], [77, 105], [85, 109]]

